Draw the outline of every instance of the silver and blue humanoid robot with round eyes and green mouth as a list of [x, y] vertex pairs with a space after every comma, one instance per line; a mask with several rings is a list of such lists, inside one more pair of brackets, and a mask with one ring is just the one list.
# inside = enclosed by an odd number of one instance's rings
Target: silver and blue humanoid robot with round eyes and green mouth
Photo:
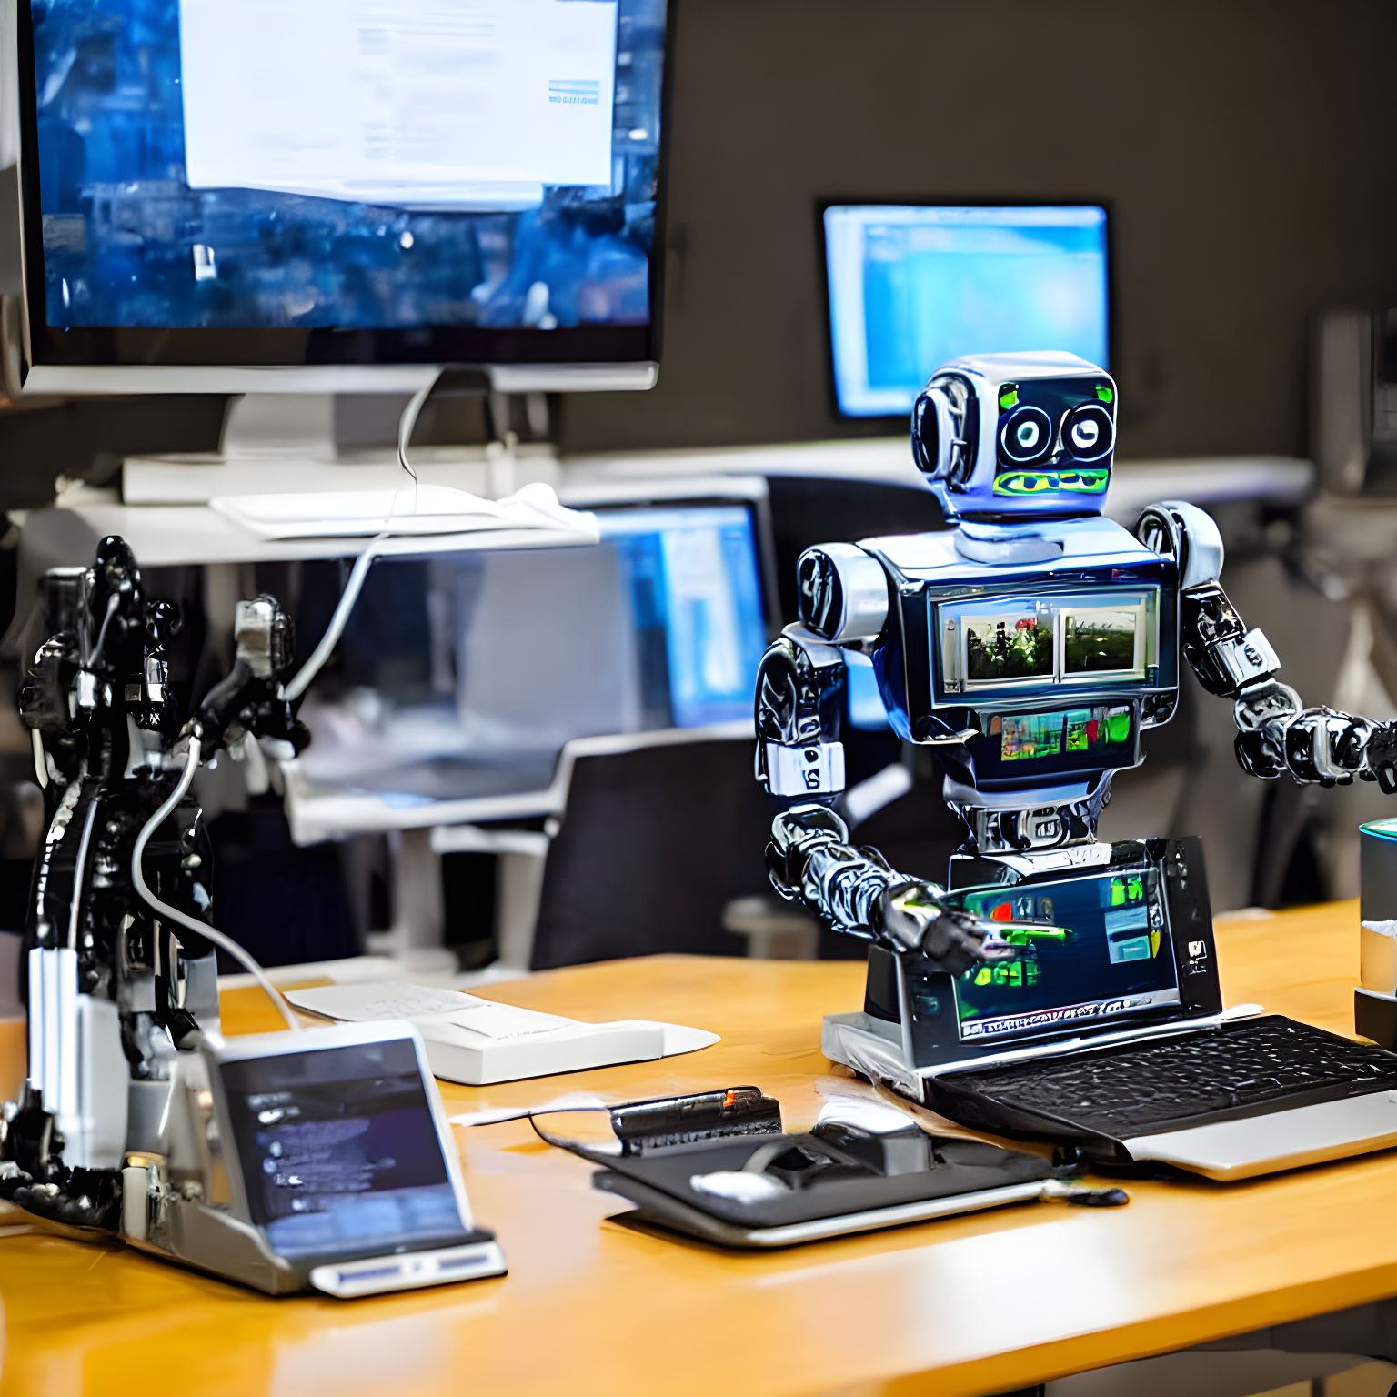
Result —
[[[756, 774], [795, 799], [771, 828], [775, 890], [873, 943], [865, 1013], [826, 1021], [826, 1052], [856, 1070], [882, 1063], [909, 1084], [936, 1060], [944, 1030], [918, 1006], [944, 1002], [937, 983], [1032, 975], [1030, 949], [1071, 935], [1055, 925], [1067, 919], [1062, 898], [1055, 918], [1049, 900], [1027, 895], [1035, 886], [1080, 875], [1077, 894], [1109, 907], [1141, 880], [1203, 882], [1196, 849], [1164, 848], [1190, 841], [1097, 838], [1112, 775], [1137, 766], [1141, 732], [1173, 715], [1180, 651], [1232, 701], [1250, 774], [1397, 791], [1397, 724], [1305, 708], [1275, 678], [1275, 652], [1218, 581], [1222, 541], [1206, 513], [1154, 504], [1133, 534], [1101, 515], [1115, 415], [1111, 376], [1076, 355], [954, 359], [912, 411], [914, 460], [953, 527], [827, 543], [798, 563], [800, 620], [757, 676]], [[894, 732], [940, 759], [965, 828], [949, 888], [849, 844], [835, 810], [847, 650], [872, 658]], [[1023, 895], [983, 915], [985, 898], [956, 891], [986, 886]], [[1207, 915], [1206, 893], [1192, 907]], [[1148, 946], [1144, 916], [1132, 947]], [[1185, 946], [1201, 954], [1201, 942]], [[1030, 964], [1013, 970], [1020, 960]], [[1215, 967], [1180, 968], [1215, 986]], [[1112, 1007], [1125, 1024], [1154, 1006]]]

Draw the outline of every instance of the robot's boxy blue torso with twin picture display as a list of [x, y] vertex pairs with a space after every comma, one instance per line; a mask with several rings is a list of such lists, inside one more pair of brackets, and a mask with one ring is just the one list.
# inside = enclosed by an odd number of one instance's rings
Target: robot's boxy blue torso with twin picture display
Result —
[[1060, 548], [1041, 569], [977, 566], [956, 532], [879, 549], [900, 594], [884, 701], [914, 742], [958, 735], [944, 754], [975, 787], [1134, 766], [1178, 698], [1172, 564], [1109, 520], [1041, 528]]

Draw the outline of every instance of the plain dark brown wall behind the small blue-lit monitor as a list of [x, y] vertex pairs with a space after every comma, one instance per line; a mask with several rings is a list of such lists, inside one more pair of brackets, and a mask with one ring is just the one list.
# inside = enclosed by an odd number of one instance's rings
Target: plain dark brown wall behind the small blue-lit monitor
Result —
[[1122, 454], [1305, 453], [1305, 319], [1397, 302], [1397, 6], [672, 0], [659, 387], [564, 448], [851, 434], [820, 196], [1087, 197], [1115, 242]]

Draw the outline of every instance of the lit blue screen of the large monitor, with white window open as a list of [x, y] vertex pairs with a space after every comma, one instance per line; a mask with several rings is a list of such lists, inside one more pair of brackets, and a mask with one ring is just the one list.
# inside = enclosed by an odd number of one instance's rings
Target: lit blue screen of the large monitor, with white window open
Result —
[[665, 0], [29, 0], [53, 327], [644, 324]]

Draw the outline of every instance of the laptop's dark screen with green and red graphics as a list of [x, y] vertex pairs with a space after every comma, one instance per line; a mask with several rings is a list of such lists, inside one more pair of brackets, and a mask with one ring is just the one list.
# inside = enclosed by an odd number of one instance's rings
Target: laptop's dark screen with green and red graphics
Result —
[[1092, 1024], [1179, 1003], [1178, 970], [1158, 876], [1141, 866], [1105, 876], [968, 888], [957, 905], [1014, 930], [1016, 960], [954, 981], [963, 1042]]

